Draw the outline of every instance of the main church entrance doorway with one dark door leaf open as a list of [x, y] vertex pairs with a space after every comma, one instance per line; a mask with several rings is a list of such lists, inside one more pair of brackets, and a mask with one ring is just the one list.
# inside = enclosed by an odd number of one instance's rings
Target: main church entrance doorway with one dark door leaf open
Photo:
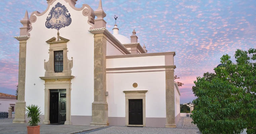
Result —
[[49, 120], [51, 124], [66, 121], [66, 89], [50, 89]]

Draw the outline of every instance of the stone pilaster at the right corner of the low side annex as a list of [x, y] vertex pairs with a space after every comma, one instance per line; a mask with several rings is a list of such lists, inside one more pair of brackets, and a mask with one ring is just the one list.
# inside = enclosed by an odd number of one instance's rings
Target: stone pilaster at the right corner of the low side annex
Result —
[[166, 128], [175, 128], [174, 68], [165, 71]]

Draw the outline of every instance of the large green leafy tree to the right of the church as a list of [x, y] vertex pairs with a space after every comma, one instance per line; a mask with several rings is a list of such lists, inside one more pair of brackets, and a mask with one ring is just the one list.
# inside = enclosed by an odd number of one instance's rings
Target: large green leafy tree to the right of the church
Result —
[[224, 66], [194, 82], [190, 116], [203, 134], [256, 133], [256, 49], [237, 50], [234, 58], [223, 55]]

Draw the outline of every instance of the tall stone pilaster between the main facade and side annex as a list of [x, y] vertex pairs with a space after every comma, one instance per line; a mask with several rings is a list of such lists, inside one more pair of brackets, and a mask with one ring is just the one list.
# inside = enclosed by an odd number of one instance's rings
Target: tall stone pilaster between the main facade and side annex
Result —
[[106, 36], [94, 34], [94, 102], [92, 122], [95, 126], [108, 126], [108, 103], [106, 102]]

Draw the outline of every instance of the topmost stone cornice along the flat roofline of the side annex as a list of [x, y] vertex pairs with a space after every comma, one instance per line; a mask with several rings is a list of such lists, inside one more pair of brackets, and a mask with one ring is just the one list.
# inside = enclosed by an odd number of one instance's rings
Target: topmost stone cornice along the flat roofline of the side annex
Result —
[[129, 57], [144, 57], [144, 56], [161, 56], [161, 55], [163, 55], [163, 56], [164, 55], [173, 55], [173, 56], [175, 56], [175, 52], [129, 54], [129, 55], [113, 55], [113, 56], [106, 56], [106, 59], [129, 58]]

